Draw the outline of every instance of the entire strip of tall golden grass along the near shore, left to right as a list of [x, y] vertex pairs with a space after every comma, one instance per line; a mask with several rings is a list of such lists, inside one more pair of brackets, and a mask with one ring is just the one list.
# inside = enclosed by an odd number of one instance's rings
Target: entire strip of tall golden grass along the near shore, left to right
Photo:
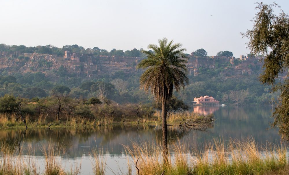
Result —
[[[17, 145], [15, 145], [15, 148]], [[162, 162], [160, 144], [134, 143], [132, 147], [125, 147], [128, 156], [126, 174], [286, 174], [288, 160], [284, 145], [268, 144], [259, 147], [253, 139], [245, 142], [214, 140], [205, 145], [202, 151], [190, 150], [189, 146], [177, 141], [171, 145], [168, 163]], [[17, 149], [2, 143], [0, 147], [0, 174], [80, 174], [81, 162], [69, 170], [61, 164], [61, 155], [65, 148], [61, 144], [42, 145], [45, 158], [43, 165], [36, 165], [33, 148], [28, 156], [15, 155]], [[91, 172], [97, 175], [111, 174], [110, 167], [119, 166], [117, 163], [107, 164], [103, 150], [91, 150]], [[43, 172], [40, 172], [40, 167]], [[135, 168], [135, 166], [137, 168]], [[44, 168], [43, 168], [44, 167]], [[134, 172], [133, 172], [134, 171]], [[116, 172], [114, 172], [116, 174]], [[117, 173], [124, 174], [124, 173]]]

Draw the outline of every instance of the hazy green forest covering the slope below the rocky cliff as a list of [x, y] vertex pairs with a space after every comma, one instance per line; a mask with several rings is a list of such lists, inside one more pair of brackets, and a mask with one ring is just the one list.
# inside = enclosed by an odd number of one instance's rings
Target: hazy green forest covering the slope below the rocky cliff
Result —
[[[260, 67], [256, 65], [249, 67], [255, 72], [253, 75], [244, 74], [238, 77], [223, 74], [223, 71], [232, 69], [229, 62], [216, 61], [215, 68], [212, 69], [200, 67], [199, 74], [189, 75], [190, 83], [185, 90], [181, 90], [175, 96], [188, 105], [192, 104], [194, 97], [204, 95], [213, 96], [225, 104], [270, 105], [273, 99], [277, 99], [279, 92], [270, 93], [270, 86], [260, 84], [258, 79]], [[59, 70], [54, 70], [53, 76], [41, 72], [21, 74], [2, 71], [0, 96], [12, 94], [29, 99], [42, 98], [50, 96], [51, 90], [55, 90], [66, 92], [72, 98], [98, 97], [101, 101], [109, 99], [117, 103], [151, 103], [153, 97], [139, 89], [139, 77], [140, 72], [127, 74], [117, 71], [88, 79], [86, 75], [69, 73], [63, 66]], [[236, 98], [240, 94], [243, 94], [244, 98]]]

